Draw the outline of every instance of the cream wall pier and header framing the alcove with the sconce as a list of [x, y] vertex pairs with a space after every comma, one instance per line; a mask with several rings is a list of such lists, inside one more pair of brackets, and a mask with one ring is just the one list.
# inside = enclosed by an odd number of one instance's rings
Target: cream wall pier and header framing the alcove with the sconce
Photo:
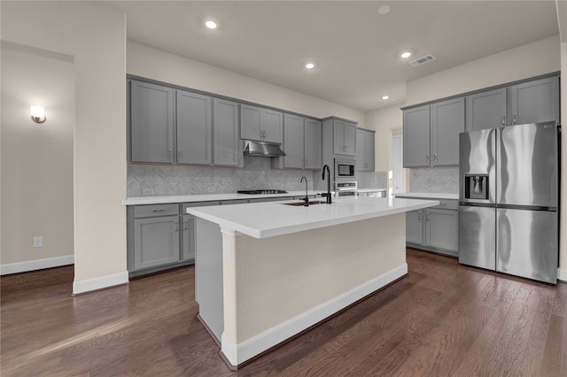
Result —
[[4, 41], [74, 57], [74, 292], [126, 282], [125, 16], [96, 2], [0, 6]]

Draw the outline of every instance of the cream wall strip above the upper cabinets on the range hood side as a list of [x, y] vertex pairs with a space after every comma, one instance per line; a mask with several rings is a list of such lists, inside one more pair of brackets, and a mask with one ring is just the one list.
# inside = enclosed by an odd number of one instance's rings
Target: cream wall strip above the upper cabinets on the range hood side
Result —
[[186, 88], [264, 104], [288, 112], [299, 112], [315, 118], [335, 115], [359, 122], [359, 127], [364, 127], [363, 112], [232, 73], [213, 65], [152, 49], [136, 42], [128, 41], [127, 72]]

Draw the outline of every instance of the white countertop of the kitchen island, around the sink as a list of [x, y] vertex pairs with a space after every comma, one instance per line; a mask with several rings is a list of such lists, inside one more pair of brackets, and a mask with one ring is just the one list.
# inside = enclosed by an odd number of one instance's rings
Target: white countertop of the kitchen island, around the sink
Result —
[[191, 207], [187, 209], [187, 213], [219, 224], [224, 231], [267, 238], [434, 205], [439, 205], [439, 201], [351, 196], [345, 199], [333, 198], [332, 204], [312, 204], [308, 207], [272, 202]]

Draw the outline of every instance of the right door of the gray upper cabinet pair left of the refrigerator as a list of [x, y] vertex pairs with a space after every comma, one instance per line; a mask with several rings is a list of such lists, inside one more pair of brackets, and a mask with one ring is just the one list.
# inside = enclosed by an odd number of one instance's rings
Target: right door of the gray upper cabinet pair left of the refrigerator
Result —
[[431, 166], [459, 165], [459, 134], [464, 132], [464, 98], [431, 104]]

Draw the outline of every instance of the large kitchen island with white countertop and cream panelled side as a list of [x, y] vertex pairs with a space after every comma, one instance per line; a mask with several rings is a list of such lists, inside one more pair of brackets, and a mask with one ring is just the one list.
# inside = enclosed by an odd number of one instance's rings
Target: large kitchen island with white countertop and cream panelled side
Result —
[[237, 368], [405, 276], [405, 212], [437, 204], [355, 196], [188, 208], [199, 318]]

